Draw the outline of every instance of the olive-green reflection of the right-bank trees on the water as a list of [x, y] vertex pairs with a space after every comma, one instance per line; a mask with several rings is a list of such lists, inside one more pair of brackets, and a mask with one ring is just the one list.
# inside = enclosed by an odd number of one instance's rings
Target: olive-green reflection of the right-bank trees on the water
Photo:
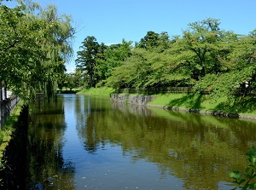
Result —
[[[101, 106], [94, 109], [94, 104]], [[246, 121], [163, 110], [161, 115], [124, 105], [108, 110], [96, 102], [90, 106], [85, 123], [77, 125], [85, 147], [106, 140], [119, 144], [134, 161], [159, 164], [163, 174], [183, 179], [188, 189], [218, 189], [218, 181], [230, 181], [227, 172], [243, 169], [245, 153], [255, 144], [256, 124]]]

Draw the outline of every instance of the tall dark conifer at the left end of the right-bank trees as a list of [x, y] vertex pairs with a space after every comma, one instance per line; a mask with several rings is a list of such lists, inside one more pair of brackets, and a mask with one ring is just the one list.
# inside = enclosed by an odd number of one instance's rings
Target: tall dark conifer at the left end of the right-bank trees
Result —
[[88, 78], [89, 87], [95, 87], [99, 81], [99, 76], [96, 71], [96, 55], [99, 52], [100, 45], [96, 42], [96, 37], [88, 36], [82, 42], [76, 66], [80, 71], [84, 72], [84, 77]]

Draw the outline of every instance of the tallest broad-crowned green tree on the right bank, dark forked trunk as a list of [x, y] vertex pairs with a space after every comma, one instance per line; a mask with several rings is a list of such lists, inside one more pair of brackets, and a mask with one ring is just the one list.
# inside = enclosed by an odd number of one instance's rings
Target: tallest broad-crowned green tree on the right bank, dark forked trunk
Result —
[[[227, 47], [223, 45], [230, 32], [219, 29], [219, 22], [215, 19], [196, 21], [189, 24], [189, 29], [183, 31], [183, 37], [173, 43], [171, 53], [175, 54], [176, 64], [186, 66], [191, 71], [191, 78], [199, 80], [207, 73], [221, 72], [219, 58]], [[233, 37], [233, 36], [232, 36]]]

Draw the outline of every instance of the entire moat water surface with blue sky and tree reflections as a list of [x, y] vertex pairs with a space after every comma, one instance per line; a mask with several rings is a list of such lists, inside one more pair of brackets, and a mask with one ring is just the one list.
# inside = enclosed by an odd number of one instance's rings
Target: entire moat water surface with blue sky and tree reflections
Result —
[[27, 189], [231, 189], [256, 122], [57, 95], [32, 107]]

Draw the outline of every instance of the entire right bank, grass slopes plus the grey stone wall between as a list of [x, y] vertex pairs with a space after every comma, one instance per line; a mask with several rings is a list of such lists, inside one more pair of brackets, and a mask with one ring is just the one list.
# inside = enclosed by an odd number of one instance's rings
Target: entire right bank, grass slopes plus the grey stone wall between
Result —
[[[114, 90], [108, 88], [83, 89], [79, 95], [113, 95]], [[122, 97], [123, 96], [123, 97]], [[150, 101], [134, 100], [134, 96], [148, 95], [113, 95], [113, 101], [120, 101], [131, 104], [141, 104], [147, 107], [157, 107], [178, 112], [197, 112], [207, 115], [224, 116], [230, 118], [256, 119], [256, 98], [254, 96], [236, 97], [230, 101], [227, 97], [212, 99], [211, 95], [199, 94], [159, 94], [150, 95]], [[131, 98], [130, 98], [131, 97]], [[149, 99], [148, 99], [149, 100]]]

